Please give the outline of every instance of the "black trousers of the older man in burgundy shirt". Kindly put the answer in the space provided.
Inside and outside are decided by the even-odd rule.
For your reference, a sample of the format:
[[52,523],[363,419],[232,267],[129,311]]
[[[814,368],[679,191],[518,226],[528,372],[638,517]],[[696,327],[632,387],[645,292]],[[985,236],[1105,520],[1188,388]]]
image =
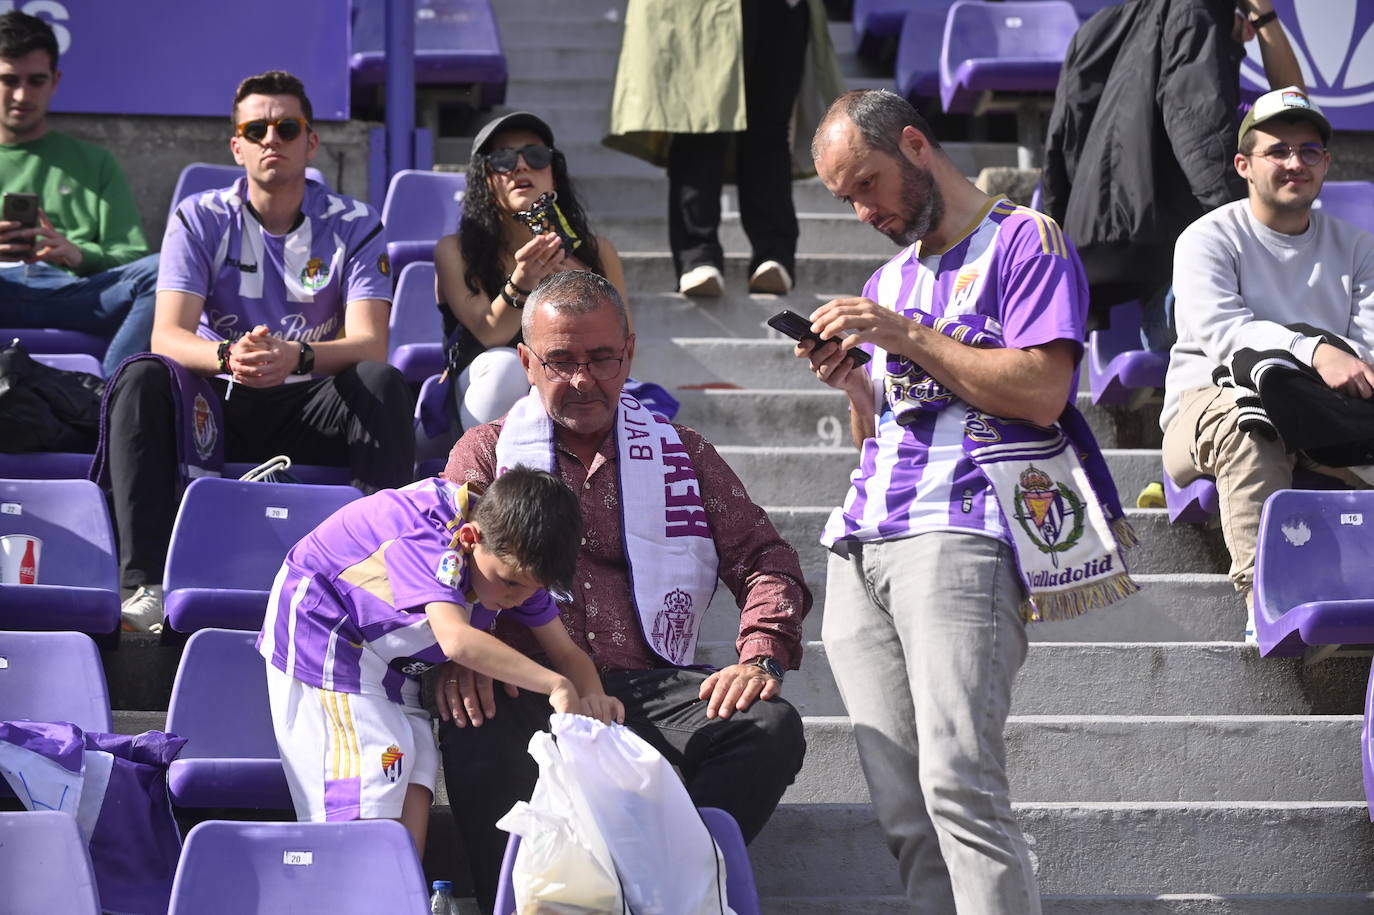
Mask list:
[[[682,772],[697,806],[719,806],[750,842],[801,769],[807,752],[801,716],[783,699],[754,702],[728,719],[706,719],[697,698],[706,673],[676,668],[620,670],[602,681],[625,703],[625,725]],[[496,901],[506,833],[496,828],[515,801],[528,801],[539,778],[529,739],[548,730],[548,697],[496,688],[496,714],[481,727],[440,724],[444,782],[473,870],[482,911]]]

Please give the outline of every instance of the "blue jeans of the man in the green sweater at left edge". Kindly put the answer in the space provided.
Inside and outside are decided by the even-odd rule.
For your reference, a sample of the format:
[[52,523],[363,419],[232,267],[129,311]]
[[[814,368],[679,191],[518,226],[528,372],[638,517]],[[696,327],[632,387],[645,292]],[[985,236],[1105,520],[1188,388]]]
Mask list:
[[144,353],[153,335],[158,256],[74,276],[51,264],[0,268],[0,327],[54,327],[113,338],[104,374]]

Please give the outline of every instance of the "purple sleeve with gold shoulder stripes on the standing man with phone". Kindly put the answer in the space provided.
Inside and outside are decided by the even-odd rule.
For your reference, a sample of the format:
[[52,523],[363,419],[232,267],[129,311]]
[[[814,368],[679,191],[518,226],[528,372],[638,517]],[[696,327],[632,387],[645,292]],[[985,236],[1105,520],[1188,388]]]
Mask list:
[[1058,227],[1039,218],[1048,225],[1025,217],[1007,246],[1000,295],[1003,342],[1025,349],[1072,339],[1081,346],[1088,312],[1083,265]]

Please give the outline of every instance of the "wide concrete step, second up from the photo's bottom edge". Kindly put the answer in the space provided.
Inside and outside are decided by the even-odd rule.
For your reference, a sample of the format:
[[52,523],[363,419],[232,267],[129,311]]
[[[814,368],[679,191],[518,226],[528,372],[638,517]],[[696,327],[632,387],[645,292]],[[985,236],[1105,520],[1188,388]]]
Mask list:
[[[1040,890],[1051,896],[1364,893],[1374,856],[1363,801],[1017,804],[1015,811]],[[866,805],[780,806],[749,853],[764,897],[901,892]]]

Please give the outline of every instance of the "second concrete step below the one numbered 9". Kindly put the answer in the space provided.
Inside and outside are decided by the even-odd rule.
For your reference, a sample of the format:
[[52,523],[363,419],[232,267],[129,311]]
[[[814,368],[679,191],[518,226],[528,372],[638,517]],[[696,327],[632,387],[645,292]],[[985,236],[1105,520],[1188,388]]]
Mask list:
[[[818,539],[834,506],[765,507],[778,533],[801,554],[807,580],[820,581],[826,572],[826,551]],[[1215,574],[1227,569],[1228,559],[1220,530],[1171,525],[1164,508],[1127,508],[1125,515],[1140,540],[1127,555],[1132,572]]]

